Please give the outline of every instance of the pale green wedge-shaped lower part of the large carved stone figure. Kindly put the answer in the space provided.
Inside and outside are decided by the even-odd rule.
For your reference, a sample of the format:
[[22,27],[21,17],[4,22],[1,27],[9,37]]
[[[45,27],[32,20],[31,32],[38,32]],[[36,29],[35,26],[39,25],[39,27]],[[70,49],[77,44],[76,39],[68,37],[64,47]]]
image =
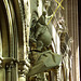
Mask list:
[[40,72],[48,71],[56,66],[59,66],[62,55],[53,53],[51,50],[38,54],[38,59],[35,66],[31,67],[28,76],[33,76]]

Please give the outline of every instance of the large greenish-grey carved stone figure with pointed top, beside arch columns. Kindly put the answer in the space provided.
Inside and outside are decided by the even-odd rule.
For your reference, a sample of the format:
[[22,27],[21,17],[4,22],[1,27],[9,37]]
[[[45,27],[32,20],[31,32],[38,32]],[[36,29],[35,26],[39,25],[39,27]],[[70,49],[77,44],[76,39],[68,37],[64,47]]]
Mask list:
[[62,56],[53,53],[50,48],[52,42],[51,33],[45,24],[45,12],[36,22],[35,27],[31,27],[30,36],[30,58],[32,67],[28,76],[44,72],[59,65]]

